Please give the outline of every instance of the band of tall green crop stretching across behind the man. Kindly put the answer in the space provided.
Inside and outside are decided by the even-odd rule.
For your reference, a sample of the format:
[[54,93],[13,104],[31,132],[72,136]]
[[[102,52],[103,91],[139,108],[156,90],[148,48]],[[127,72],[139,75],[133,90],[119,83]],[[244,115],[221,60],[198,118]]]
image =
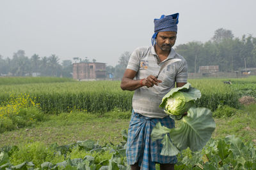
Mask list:
[[[8,78],[6,78],[8,79]],[[255,77],[241,80],[234,80],[234,85],[226,85],[221,79],[189,80],[189,82],[202,92],[202,97],[197,101],[197,106],[211,109],[218,108],[219,104],[227,104],[239,108],[237,93],[239,85],[244,81],[253,86]],[[4,80],[4,78],[3,78]],[[7,81],[7,80],[6,80]],[[123,111],[131,110],[133,92],[122,91],[120,81],[71,81],[42,83],[33,81],[31,83],[11,85],[0,85],[0,103],[9,101],[10,96],[29,94],[35,98],[36,103],[47,113],[61,113],[70,110],[86,110],[89,112],[104,112],[119,108]],[[63,80],[64,81],[64,80]],[[233,80],[232,80],[233,81]],[[252,93],[255,92],[255,89]]]

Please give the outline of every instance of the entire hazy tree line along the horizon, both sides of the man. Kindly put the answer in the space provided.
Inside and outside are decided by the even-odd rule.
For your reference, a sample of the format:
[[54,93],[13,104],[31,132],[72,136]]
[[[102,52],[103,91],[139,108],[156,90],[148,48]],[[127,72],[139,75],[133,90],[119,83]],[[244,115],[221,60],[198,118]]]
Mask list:
[[[188,62],[189,73],[198,73],[199,66],[219,66],[220,71],[239,71],[244,67],[256,67],[256,38],[251,34],[234,38],[232,31],[217,29],[214,36],[207,42],[191,41],[175,46],[175,51],[182,55]],[[107,66],[107,74],[113,78],[122,78],[131,56],[124,52],[118,59],[116,66]],[[75,62],[90,62],[85,57],[73,58]],[[93,59],[93,62],[96,62]],[[40,76],[65,76],[72,77],[72,60],[63,60],[56,55],[39,57],[34,54],[31,58],[25,55],[24,50],[13,53],[12,59],[3,59],[0,55],[0,75],[31,76],[40,73]]]

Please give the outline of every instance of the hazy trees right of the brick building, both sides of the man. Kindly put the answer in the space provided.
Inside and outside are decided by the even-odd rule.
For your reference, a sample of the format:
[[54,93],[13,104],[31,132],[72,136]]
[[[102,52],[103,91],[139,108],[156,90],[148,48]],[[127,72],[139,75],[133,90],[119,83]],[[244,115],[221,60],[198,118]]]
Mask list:
[[[232,31],[223,28],[214,31],[209,41],[177,45],[175,52],[187,60],[189,73],[198,73],[199,66],[219,66],[219,71],[223,72],[256,67],[256,38],[251,34],[234,38]],[[116,78],[122,78],[130,55],[123,53],[115,67],[109,66]]]

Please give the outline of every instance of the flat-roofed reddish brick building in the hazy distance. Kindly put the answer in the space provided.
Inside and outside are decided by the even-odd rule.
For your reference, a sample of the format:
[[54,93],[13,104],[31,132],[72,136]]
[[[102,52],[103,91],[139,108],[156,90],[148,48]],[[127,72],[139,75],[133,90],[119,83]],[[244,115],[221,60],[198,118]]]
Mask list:
[[104,80],[106,78],[106,63],[80,62],[73,64],[73,79]]

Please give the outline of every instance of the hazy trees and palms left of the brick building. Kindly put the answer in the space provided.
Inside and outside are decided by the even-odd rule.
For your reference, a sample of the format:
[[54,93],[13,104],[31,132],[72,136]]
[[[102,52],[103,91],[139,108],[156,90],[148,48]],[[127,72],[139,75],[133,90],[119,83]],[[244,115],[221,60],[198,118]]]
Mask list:
[[63,60],[60,64],[60,59],[55,54],[39,57],[35,53],[29,58],[24,50],[18,50],[13,53],[12,59],[3,59],[0,55],[0,75],[72,77],[72,60]]

